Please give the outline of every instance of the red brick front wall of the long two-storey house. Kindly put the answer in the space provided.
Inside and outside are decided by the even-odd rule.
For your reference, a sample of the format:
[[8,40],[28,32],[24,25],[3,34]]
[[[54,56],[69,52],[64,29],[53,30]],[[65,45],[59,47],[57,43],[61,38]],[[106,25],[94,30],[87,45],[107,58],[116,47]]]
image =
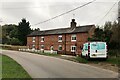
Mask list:
[[[44,45],[44,50],[50,50],[50,47],[53,46],[53,49],[55,51],[58,51],[58,46],[62,45],[62,51],[58,51],[59,53],[74,54],[71,52],[71,46],[75,45],[76,54],[80,54],[81,47],[83,46],[83,43],[87,42],[87,38],[89,34],[88,33],[75,34],[77,38],[75,42],[71,41],[71,35],[73,34],[66,34],[66,35],[62,34],[62,42],[58,42],[59,35],[34,36],[35,42],[33,42],[32,40],[33,37],[27,37],[27,46],[28,48],[32,49],[32,45],[34,44],[36,49],[41,49],[41,45]],[[44,37],[44,42],[41,42],[41,37]]]

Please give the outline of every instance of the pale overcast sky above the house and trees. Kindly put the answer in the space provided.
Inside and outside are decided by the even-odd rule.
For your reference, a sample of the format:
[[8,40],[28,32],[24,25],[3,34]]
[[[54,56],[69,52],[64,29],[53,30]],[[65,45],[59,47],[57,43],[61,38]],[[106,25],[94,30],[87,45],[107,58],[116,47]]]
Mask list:
[[0,0],[0,24],[18,24],[22,18],[26,18],[30,22],[31,28],[48,30],[69,27],[72,18],[76,19],[78,26],[103,25],[105,21],[117,19],[118,4],[101,20],[118,0],[96,0],[54,20],[35,25],[89,1],[92,0]]

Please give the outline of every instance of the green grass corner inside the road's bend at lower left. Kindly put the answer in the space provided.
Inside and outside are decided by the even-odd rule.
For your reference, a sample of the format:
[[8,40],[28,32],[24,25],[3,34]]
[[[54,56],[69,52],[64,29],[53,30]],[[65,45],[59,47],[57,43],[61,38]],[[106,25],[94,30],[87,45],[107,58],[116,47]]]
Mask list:
[[2,78],[17,78],[17,80],[29,78],[29,80],[32,80],[21,65],[5,55],[2,55]]

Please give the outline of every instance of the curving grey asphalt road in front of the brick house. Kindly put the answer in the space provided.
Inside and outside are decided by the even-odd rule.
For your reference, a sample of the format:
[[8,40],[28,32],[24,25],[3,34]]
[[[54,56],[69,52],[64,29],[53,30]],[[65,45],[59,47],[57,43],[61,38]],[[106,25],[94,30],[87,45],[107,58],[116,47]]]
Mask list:
[[16,60],[23,66],[23,68],[30,74],[32,78],[118,77],[118,73],[110,70],[49,56],[9,50],[3,50],[2,54],[5,54]]

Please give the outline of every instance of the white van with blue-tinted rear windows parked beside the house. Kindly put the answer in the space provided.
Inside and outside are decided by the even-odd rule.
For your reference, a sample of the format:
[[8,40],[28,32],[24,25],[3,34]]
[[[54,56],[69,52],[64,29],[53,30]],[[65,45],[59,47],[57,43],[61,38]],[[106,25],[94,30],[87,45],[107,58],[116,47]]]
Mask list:
[[106,42],[87,42],[83,44],[81,57],[104,58],[107,59],[107,44]]

